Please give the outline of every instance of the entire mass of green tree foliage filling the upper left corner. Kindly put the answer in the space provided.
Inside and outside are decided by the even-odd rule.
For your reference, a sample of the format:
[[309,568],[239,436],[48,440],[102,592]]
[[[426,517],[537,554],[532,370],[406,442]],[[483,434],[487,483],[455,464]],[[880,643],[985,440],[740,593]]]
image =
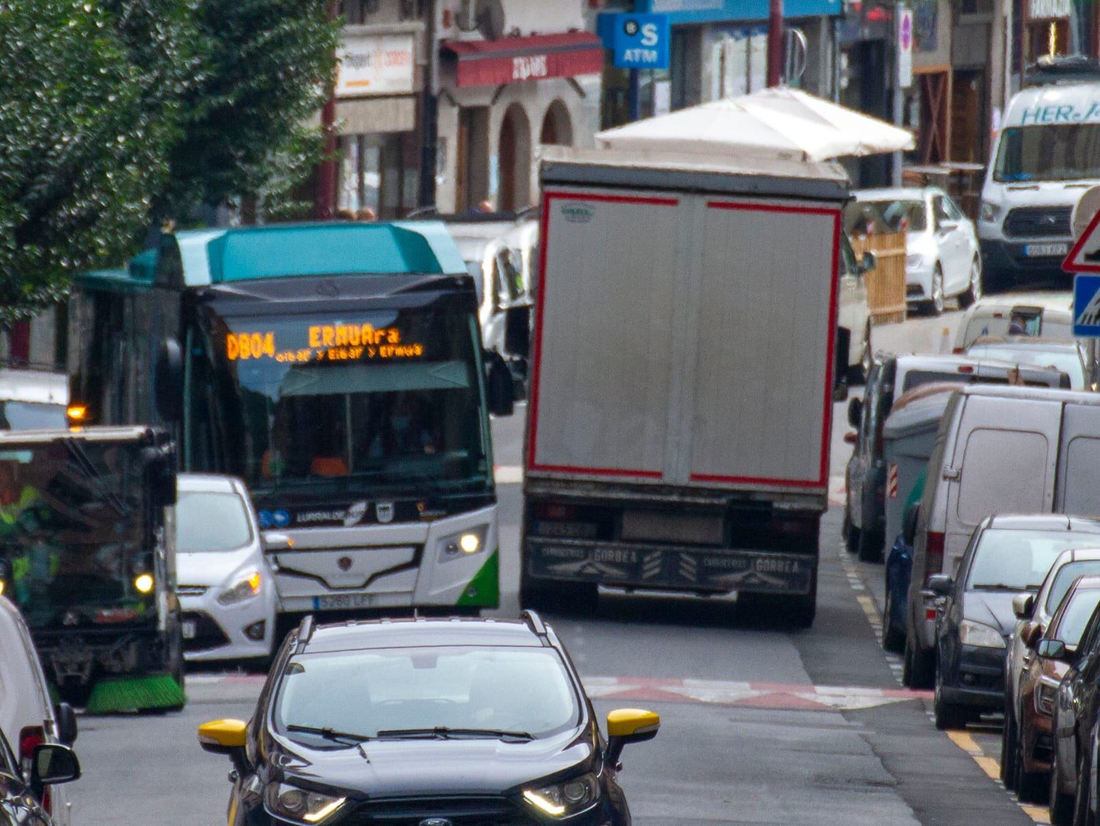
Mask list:
[[0,0],[0,328],[319,157],[328,0]]

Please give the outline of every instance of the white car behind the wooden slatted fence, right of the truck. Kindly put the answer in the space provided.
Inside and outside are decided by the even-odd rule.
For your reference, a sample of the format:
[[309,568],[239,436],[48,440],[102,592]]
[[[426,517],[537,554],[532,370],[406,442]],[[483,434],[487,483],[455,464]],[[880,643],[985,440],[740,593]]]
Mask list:
[[969,307],[981,297],[981,253],[974,222],[938,187],[860,189],[845,210],[849,233],[902,232],[905,298],[936,315],[947,298]]

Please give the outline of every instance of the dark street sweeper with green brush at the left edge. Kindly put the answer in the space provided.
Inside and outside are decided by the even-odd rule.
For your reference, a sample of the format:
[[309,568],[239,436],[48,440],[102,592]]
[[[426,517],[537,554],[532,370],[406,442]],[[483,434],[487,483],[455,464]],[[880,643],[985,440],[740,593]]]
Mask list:
[[0,593],[59,698],[184,705],[175,445],[146,427],[0,432]]

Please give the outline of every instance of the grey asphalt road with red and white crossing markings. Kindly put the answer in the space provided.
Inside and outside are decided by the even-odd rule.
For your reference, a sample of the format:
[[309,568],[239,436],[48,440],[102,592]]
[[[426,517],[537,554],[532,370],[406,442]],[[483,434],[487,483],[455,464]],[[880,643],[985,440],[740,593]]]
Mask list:
[[[952,329],[957,316],[879,328],[875,343],[938,351],[943,328]],[[494,425],[501,613],[512,616],[525,412],[520,407]],[[835,476],[847,461],[845,428],[837,405]],[[838,494],[834,503],[843,502]],[[871,619],[882,569],[843,551],[839,521],[834,504],[822,526],[818,612],[810,630],[739,616],[733,599],[602,596],[591,616],[550,618],[601,714],[645,706],[662,716],[657,740],[624,756],[639,826],[1033,822],[989,777],[996,729],[936,731],[930,697],[901,689],[897,659],[882,652]],[[85,775],[72,788],[74,826],[223,823],[230,766],[198,748],[196,727],[250,716],[262,679],[201,671],[189,675],[190,702],[179,714],[81,718],[76,746]]]

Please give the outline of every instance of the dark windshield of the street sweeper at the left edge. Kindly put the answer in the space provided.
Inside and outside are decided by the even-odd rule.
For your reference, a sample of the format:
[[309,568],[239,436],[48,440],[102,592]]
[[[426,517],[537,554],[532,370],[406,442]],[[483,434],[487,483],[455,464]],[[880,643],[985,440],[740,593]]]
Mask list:
[[[0,450],[0,555],[32,627],[103,621],[148,605],[134,577],[152,572],[140,445],[58,439]],[[128,615],[129,616],[129,615]],[[75,619],[73,619],[75,617]]]

